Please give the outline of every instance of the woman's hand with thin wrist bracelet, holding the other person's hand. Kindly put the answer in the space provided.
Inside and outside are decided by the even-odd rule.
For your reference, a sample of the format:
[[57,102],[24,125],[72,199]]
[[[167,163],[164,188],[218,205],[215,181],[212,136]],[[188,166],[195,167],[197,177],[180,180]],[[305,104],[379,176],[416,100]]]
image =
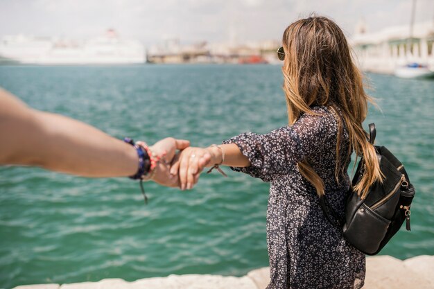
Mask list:
[[214,148],[189,147],[175,157],[171,167],[171,175],[178,175],[182,191],[192,189],[198,182],[203,168],[219,164],[220,161],[221,154],[219,155]]

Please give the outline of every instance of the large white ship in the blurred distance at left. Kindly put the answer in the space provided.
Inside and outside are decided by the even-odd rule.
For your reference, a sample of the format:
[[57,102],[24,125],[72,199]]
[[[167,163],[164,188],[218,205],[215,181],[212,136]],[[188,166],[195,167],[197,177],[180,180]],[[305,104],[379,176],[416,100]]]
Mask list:
[[112,29],[92,40],[77,42],[50,37],[5,36],[0,62],[22,64],[139,64],[146,62],[143,44],[124,40]]

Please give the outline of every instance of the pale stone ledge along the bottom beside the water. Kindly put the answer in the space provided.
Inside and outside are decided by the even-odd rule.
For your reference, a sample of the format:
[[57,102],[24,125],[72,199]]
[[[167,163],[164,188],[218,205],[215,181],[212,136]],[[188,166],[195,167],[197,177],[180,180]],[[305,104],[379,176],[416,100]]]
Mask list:
[[[366,259],[366,289],[434,288],[434,256],[417,256],[401,261],[391,256],[370,256]],[[169,275],[128,282],[103,279],[98,282],[40,284],[14,289],[264,289],[270,281],[270,269],[260,268],[243,277],[220,275]]]

